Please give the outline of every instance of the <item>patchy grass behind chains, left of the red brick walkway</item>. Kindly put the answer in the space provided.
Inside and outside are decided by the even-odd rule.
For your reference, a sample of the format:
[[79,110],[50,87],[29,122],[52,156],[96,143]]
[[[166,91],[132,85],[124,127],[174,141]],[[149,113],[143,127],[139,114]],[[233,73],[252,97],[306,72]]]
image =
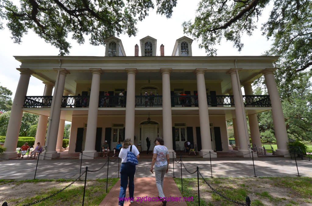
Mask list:
[[[108,179],[108,191],[116,184],[116,182],[119,180],[119,178],[109,178]],[[46,184],[49,184],[47,182],[57,182],[59,183],[58,186],[45,189],[44,187],[39,187],[37,190],[32,190],[32,193],[28,193],[27,197],[25,198],[18,198],[18,199],[7,199],[6,201],[9,203],[9,205],[17,205],[21,206],[24,204],[29,204],[32,202],[35,202],[37,200],[49,197],[53,194],[56,194],[61,189],[65,188],[67,185],[70,184],[74,180],[64,180],[64,179],[58,179],[58,180],[21,180],[21,181],[0,181],[0,184],[9,184],[10,185],[18,185],[19,187],[22,187],[24,183],[33,183],[37,184],[39,182],[44,182]],[[68,182],[68,184],[67,184]],[[78,181],[77,181],[78,182]],[[84,181],[79,181],[79,184],[76,184],[76,182],[66,188],[65,190],[59,192],[58,194],[40,202],[36,205],[38,206],[44,206],[44,205],[81,205],[82,199],[83,199],[83,192],[84,192]],[[65,186],[63,183],[66,183]],[[62,184],[62,185],[60,185]],[[90,206],[97,206],[101,203],[101,201],[106,196],[106,179],[96,179],[96,180],[87,180],[87,186],[85,190],[85,205]]]

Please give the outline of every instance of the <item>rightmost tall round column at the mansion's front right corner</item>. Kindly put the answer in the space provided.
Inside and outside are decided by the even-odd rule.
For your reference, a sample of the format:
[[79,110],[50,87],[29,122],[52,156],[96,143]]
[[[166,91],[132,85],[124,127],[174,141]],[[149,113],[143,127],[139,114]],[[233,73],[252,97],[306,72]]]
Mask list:
[[265,69],[263,71],[266,79],[266,88],[270,95],[272,105],[272,118],[274,124],[275,138],[277,149],[275,154],[284,155],[289,153],[286,143],[288,142],[287,130],[283,114],[282,103],[280,102],[280,94],[278,93],[273,70]]

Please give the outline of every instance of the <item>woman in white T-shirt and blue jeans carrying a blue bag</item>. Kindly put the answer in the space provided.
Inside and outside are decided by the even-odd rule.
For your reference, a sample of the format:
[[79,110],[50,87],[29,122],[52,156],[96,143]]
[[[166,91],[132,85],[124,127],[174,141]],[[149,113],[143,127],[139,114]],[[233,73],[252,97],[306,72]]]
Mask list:
[[[120,192],[119,192],[119,206],[124,205],[124,198],[126,197],[126,190],[128,185],[128,178],[129,178],[129,197],[130,199],[134,198],[134,174],[135,174],[135,165],[127,164],[127,153],[130,151],[130,147],[132,146],[131,152],[139,160],[139,150],[131,143],[130,138],[126,138],[124,143],[122,144],[122,148],[119,152],[119,158],[121,158],[121,166],[120,166]],[[130,201],[130,203],[133,200]]]

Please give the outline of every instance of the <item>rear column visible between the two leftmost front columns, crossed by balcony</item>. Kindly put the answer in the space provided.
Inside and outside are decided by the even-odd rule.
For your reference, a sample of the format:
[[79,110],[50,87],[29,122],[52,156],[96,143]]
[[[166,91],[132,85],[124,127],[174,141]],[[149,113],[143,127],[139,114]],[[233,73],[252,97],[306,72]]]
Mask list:
[[[43,82],[43,83],[45,84],[43,96],[52,96],[54,83],[51,82]],[[37,142],[40,142],[41,145],[45,144],[47,125],[48,125],[48,116],[39,115],[35,144],[33,145],[34,148],[37,146]]]

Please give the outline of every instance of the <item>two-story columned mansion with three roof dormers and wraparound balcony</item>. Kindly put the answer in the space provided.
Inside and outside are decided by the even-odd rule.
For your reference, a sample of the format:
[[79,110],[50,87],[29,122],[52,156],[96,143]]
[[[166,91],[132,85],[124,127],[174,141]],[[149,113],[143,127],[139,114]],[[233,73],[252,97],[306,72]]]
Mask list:
[[[15,56],[21,62],[17,68],[21,74],[4,144],[7,150],[1,157],[17,157],[23,112],[40,115],[36,142],[44,143],[46,157],[58,157],[64,150],[65,121],[71,122],[69,153],[96,157],[105,140],[113,148],[125,137],[143,151],[147,137],[152,140],[151,149],[154,139],[163,137],[171,156],[185,141],[196,144],[201,155],[228,152],[226,121],[230,119],[236,149],[247,154],[246,118],[252,143],[261,146],[256,114],[272,110],[275,154],[287,154],[288,138],[273,75],[272,62],[277,57],[192,56],[192,41],[179,38],[171,56],[164,56],[163,44],[161,55],[156,56],[157,40],[150,36],[134,46],[134,56],[126,56],[116,37],[105,40],[105,56]],[[44,94],[26,96],[31,75],[43,82]],[[251,83],[262,75],[269,95],[255,96]]]

